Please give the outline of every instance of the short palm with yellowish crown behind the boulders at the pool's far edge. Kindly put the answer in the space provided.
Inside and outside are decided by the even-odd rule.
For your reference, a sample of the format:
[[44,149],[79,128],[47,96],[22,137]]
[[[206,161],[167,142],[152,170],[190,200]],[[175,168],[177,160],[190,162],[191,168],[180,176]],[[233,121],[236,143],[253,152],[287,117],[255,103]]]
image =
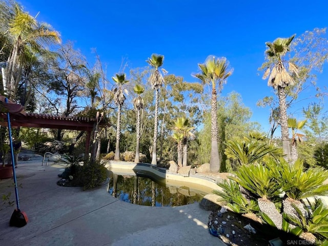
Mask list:
[[[186,119],[185,117],[179,117],[179,118],[177,118],[176,121],[174,121],[173,129],[181,137],[180,148],[182,150],[180,150],[180,151],[183,153],[183,156],[181,156],[182,167],[187,167],[188,137],[194,136],[194,134],[192,133],[192,130],[194,129],[194,127],[190,127],[188,119]],[[179,155],[179,142],[178,142],[178,155]],[[178,158],[178,163],[179,163],[179,158]]]

